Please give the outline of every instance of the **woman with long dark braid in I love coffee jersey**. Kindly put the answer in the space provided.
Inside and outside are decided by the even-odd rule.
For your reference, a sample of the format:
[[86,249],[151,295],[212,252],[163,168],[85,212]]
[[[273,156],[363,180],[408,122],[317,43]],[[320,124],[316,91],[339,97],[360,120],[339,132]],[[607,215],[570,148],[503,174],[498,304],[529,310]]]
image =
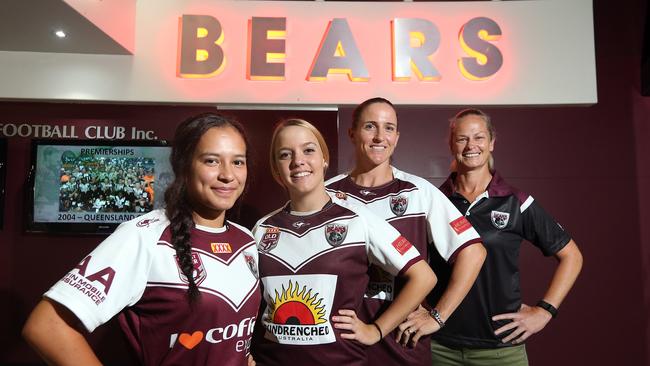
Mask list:
[[119,314],[142,364],[252,363],[257,250],[251,233],[226,219],[245,191],[248,153],[234,120],[181,123],[166,209],[121,224],[46,292],[26,340],[50,364],[99,365],[84,335]]

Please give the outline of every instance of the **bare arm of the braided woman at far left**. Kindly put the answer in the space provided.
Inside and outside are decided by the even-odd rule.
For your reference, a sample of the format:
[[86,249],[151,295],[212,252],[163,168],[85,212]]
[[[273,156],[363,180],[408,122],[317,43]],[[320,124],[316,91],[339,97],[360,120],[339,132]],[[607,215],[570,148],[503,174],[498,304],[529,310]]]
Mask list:
[[81,329],[74,314],[45,298],[27,319],[23,337],[48,365],[101,365]]

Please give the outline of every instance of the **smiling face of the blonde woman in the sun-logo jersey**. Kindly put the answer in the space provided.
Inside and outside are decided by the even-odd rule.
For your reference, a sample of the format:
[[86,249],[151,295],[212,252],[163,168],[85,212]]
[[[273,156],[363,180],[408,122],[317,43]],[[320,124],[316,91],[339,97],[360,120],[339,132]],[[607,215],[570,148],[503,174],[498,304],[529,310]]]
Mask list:
[[292,201],[325,190],[327,162],[316,135],[306,127],[286,126],[276,135],[273,163]]

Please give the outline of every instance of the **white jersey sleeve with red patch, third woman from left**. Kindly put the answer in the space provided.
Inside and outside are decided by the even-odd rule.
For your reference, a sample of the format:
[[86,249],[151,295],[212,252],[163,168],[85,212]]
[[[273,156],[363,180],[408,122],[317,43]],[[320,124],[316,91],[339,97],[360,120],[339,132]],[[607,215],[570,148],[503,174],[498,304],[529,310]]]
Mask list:
[[481,237],[469,220],[439,189],[431,184],[422,187],[427,207],[429,240],[446,261],[453,261],[466,246],[478,243]]

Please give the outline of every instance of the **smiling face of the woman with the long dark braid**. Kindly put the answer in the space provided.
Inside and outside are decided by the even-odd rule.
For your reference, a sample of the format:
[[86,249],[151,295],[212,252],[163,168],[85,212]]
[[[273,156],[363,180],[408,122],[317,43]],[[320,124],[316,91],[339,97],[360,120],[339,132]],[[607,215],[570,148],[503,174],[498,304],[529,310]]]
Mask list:
[[[187,191],[199,225],[221,226],[246,185],[246,143],[232,127],[206,131],[194,149]],[[212,224],[212,225],[211,225]]]

